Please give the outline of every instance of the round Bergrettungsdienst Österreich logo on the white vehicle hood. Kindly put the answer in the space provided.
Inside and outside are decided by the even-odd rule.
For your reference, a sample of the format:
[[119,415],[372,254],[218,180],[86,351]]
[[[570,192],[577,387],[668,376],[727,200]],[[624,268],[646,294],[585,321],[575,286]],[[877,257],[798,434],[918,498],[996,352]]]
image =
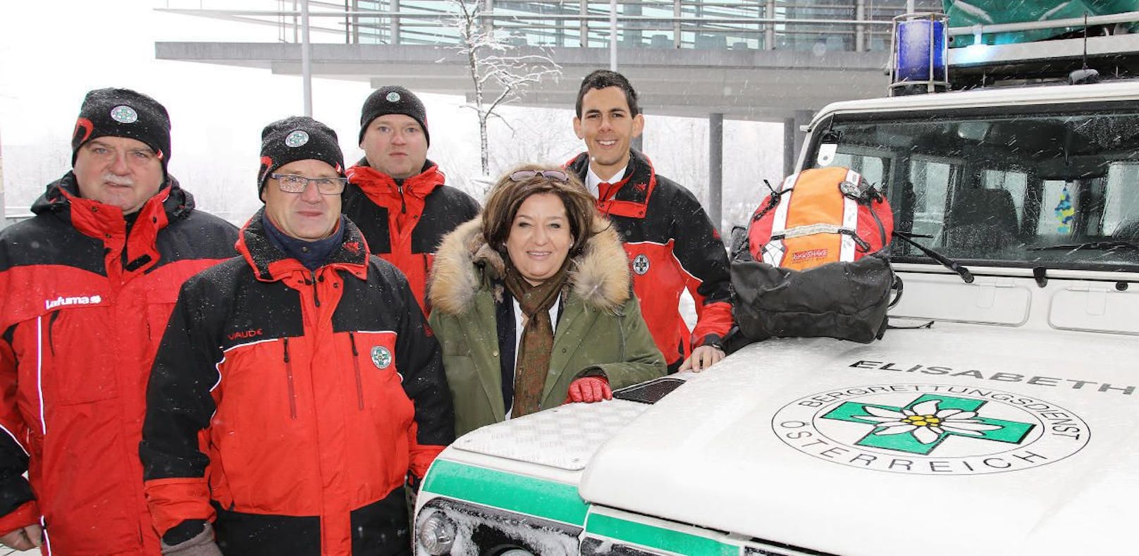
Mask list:
[[820,392],[776,412],[772,430],[813,457],[866,469],[975,475],[1080,451],[1090,431],[1052,402],[985,387],[879,384]]

